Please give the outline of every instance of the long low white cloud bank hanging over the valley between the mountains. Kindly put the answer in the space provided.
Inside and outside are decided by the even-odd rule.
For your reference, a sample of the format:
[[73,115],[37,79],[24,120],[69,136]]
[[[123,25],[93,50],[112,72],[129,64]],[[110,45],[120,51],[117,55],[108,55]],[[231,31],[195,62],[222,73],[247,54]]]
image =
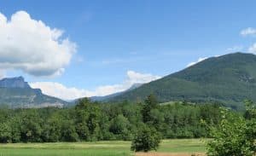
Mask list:
[[113,85],[102,85],[97,87],[96,90],[84,90],[73,87],[68,88],[63,84],[53,82],[36,82],[30,83],[30,85],[32,86],[32,88],[41,89],[46,95],[52,95],[64,100],[72,100],[84,96],[90,97],[95,95],[110,95],[119,91],[127,90],[131,87],[132,84],[144,84],[158,78],[160,78],[160,76],[155,76],[149,73],[127,71],[126,78],[122,83]]

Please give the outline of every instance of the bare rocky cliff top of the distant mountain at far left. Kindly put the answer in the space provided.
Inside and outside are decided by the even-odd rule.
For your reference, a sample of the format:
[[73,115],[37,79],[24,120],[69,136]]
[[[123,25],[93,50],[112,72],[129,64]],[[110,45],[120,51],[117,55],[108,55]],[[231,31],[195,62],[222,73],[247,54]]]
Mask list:
[[24,81],[23,77],[3,78],[0,80],[0,88],[21,88],[27,89],[30,86]]

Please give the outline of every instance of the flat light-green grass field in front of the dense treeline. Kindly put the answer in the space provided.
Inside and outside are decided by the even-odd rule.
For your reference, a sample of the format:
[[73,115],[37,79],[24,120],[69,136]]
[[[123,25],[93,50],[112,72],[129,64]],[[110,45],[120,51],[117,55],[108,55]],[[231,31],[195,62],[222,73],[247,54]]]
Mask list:
[[[131,142],[58,142],[0,144],[0,156],[126,156],[145,155],[132,153]],[[206,147],[199,139],[164,140],[157,153],[147,155],[191,155],[204,153]]]

